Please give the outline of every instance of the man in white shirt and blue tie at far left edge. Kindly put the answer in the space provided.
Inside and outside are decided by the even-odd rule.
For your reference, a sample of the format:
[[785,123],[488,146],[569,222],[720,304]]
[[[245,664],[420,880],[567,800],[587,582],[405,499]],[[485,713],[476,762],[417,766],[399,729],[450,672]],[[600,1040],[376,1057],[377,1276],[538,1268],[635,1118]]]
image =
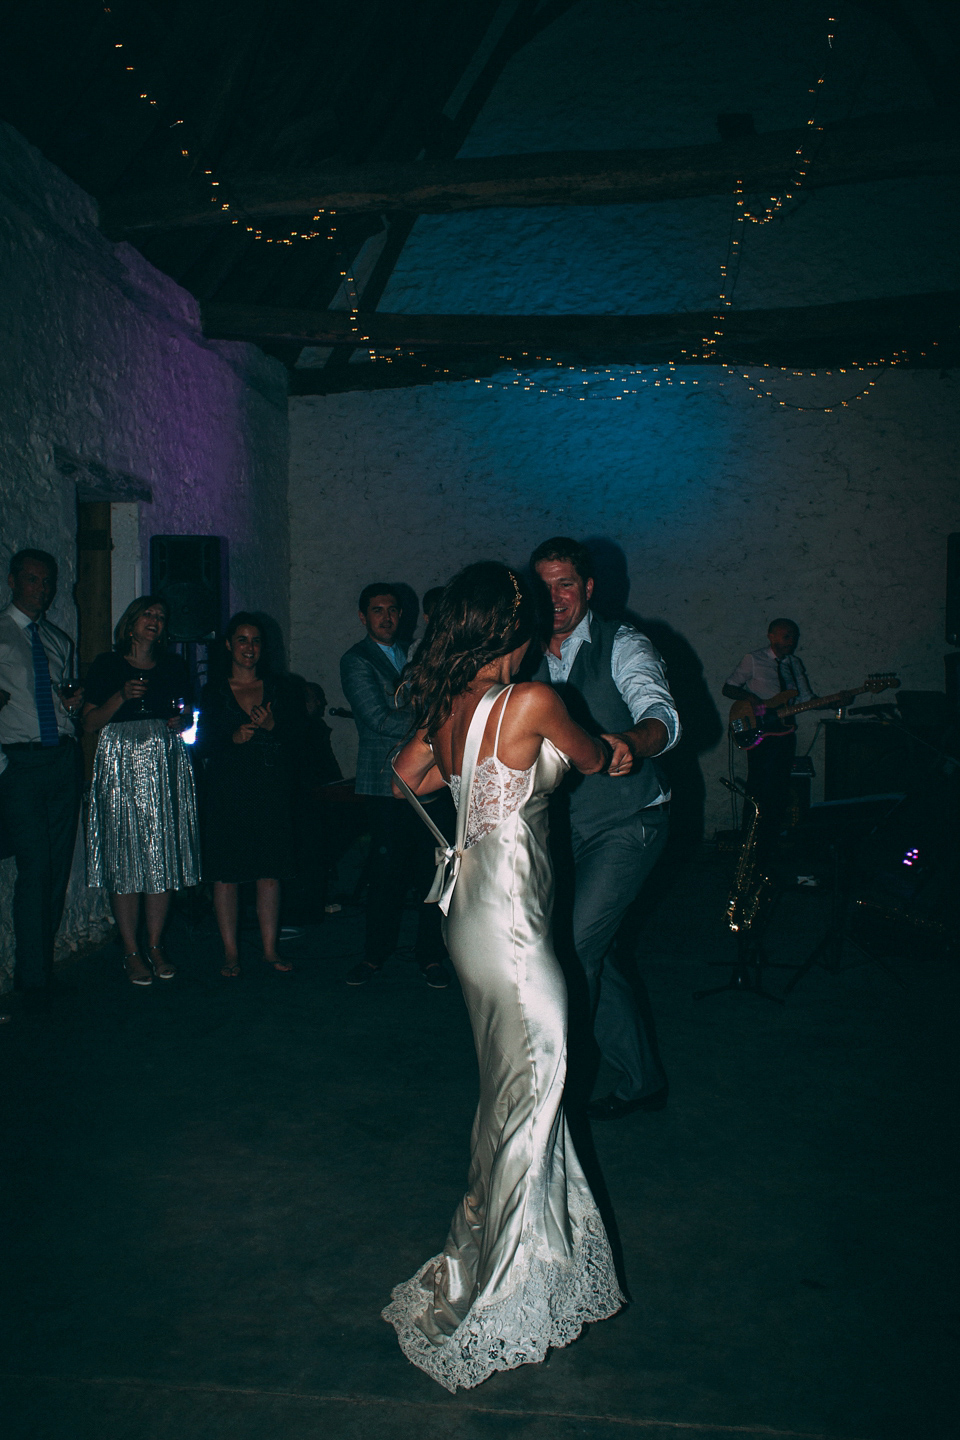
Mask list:
[[56,560],[20,550],[10,562],[12,602],[0,612],[0,821],[17,861],[13,891],[14,988],[42,999],[53,976],[53,940],[73,864],[82,760],[72,714],[73,642],[45,618]]

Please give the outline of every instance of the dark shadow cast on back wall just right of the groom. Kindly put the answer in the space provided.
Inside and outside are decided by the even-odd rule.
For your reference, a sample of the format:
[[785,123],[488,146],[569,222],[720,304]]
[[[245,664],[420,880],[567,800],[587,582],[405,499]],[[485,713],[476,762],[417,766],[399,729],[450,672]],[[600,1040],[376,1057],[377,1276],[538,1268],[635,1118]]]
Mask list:
[[723,737],[724,726],[704,680],[699,655],[685,635],[662,619],[638,615],[628,608],[630,576],[619,544],[603,536],[586,541],[593,556],[592,608],[603,619],[625,621],[649,635],[666,664],[666,677],[676,703],[684,734],[661,760],[672,789],[669,852],[675,860],[689,854],[704,838],[707,786],[699,756]]

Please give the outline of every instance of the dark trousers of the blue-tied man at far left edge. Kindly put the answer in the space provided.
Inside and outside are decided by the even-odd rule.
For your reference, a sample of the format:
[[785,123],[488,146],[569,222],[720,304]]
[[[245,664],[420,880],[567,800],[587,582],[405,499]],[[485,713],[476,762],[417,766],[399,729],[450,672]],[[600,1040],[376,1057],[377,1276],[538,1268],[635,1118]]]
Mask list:
[[73,864],[81,780],[81,747],[73,740],[49,750],[7,752],[7,768],[0,775],[0,818],[17,861],[17,989],[39,989],[53,973],[53,940]]

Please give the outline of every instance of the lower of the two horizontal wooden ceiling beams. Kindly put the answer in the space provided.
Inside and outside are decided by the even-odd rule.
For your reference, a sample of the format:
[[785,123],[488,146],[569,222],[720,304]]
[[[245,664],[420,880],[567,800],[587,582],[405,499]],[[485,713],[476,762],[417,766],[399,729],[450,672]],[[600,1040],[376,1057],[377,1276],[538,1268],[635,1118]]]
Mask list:
[[[553,356],[593,363],[702,364],[704,337],[718,327],[711,311],[676,315],[387,315],[363,314],[354,328],[347,311],[296,311],[259,305],[204,305],[207,336],[258,344],[350,344],[354,348],[416,353],[455,350],[534,364]],[[733,310],[711,359],[770,364],[845,364],[889,359],[956,363],[960,346],[960,291],[895,295],[882,300]],[[936,343],[936,344],[934,344]],[[921,351],[927,351],[925,356]]]

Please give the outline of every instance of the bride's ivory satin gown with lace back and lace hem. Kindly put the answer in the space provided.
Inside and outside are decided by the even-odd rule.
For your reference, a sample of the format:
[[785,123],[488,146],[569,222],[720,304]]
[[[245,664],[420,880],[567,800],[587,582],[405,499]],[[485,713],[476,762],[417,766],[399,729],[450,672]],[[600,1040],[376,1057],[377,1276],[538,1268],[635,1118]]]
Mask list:
[[[446,919],[479,1061],[468,1188],[443,1253],[383,1316],[450,1391],[543,1361],[623,1303],[561,1109],[567,994],[550,937],[547,801],[567,763],[545,740],[530,770],[510,770],[497,749],[476,766]],[[450,789],[459,802],[459,776]]]

